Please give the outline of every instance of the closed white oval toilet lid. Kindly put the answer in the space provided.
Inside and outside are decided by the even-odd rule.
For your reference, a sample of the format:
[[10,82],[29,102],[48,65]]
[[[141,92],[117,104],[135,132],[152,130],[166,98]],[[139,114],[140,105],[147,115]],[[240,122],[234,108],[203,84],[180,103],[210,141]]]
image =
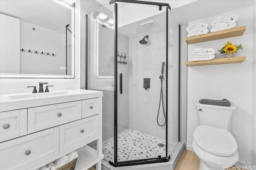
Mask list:
[[231,133],[218,127],[198,126],[194,131],[194,141],[201,149],[217,156],[232,156],[237,151]]

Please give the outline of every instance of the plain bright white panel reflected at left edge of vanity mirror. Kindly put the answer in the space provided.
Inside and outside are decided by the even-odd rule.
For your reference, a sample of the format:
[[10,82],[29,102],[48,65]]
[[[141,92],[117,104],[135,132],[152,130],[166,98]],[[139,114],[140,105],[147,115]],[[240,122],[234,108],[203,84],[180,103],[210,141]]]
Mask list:
[[0,72],[20,73],[20,20],[0,14]]

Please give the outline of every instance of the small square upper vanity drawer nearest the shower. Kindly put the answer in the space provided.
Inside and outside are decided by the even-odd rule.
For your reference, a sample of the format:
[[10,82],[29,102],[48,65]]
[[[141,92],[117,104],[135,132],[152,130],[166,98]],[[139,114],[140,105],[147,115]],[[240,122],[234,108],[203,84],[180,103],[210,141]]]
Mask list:
[[99,98],[82,100],[82,118],[99,114]]

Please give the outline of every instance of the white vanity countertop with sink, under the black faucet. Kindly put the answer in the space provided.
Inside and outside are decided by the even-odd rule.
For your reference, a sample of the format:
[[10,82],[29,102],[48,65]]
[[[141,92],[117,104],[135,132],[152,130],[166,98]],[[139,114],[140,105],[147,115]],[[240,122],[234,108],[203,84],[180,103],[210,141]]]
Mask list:
[[58,90],[48,93],[1,94],[0,112],[102,97],[94,90]]

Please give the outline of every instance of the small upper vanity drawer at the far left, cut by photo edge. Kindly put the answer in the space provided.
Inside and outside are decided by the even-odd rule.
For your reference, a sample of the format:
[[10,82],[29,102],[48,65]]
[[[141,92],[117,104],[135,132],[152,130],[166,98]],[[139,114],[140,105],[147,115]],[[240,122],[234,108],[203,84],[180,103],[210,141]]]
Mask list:
[[0,113],[0,142],[27,134],[27,109]]

